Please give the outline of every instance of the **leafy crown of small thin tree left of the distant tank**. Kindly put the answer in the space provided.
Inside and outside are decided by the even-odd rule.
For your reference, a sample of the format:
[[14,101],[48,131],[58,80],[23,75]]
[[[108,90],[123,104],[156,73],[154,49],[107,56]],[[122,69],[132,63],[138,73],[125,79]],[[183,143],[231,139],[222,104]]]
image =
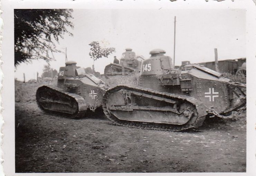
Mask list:
[[110,54],[115,52],[114,47],[102,48],[99,46],[99,42],[91,42],[89,45],[91,46],[89,55],[94,61],[96,61],[98,58],[108,57]]

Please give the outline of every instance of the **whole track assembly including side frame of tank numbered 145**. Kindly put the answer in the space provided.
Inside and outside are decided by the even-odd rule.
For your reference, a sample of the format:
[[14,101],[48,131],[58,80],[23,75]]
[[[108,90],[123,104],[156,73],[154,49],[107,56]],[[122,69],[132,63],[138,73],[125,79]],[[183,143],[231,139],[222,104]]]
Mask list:
[[107,118],[133,128],[181,131],[198,127],[206,109],[193,97],[135,86],[114,87],[103,97]]

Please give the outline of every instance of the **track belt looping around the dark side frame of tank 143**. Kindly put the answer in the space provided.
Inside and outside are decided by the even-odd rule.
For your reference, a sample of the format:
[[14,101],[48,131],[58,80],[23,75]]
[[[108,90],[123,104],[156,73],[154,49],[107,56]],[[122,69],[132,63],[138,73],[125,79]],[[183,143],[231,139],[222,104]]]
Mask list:
[[[41,106],[40,102],[38,101],[38,99],[39,99],[38,91],[40,91],[40,89],[43,89],[43,88],[51,89],[51,90],[56,91],[58,94],[62,94],[64,96],[66,95],[66,96],[69,96],[69,97],[73,98],[77,102],[78,107],[80,106],[79,108],[77,107],[77,112],[75,112],[73,114],[70,114],[70,113],[53,111],[53,110],[48,110],[48,109],[43,108]],[[85,100],[82,96],[79,96],[79,95],[74,94],[74,93],[70,93],[68,91],[65,91],[64,89],[61,89],[61,88],[57,87],[57,86],[42,86],[42,87],[39,87],[38,90],[37,90],[37,93],[36,93],[36,102],[37,102],[38,107],[42,111],[44,111],[46,114],[57,115],[57,116],[70,118],[70,119],[78,119],[78,118],[84,117],[84,115],[86,113],[86,109],[87,109],[86,102],[85,102]]]

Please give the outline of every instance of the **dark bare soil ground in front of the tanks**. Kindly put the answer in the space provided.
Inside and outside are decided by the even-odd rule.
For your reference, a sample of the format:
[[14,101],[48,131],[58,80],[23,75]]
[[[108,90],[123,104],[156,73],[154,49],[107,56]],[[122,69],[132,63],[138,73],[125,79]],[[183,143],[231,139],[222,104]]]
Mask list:
[[101,110],[78,120],[44,114],[40,85],[15,86],[16,173],[246,172],[245,112],[184,132],[142,130],[114,125]]

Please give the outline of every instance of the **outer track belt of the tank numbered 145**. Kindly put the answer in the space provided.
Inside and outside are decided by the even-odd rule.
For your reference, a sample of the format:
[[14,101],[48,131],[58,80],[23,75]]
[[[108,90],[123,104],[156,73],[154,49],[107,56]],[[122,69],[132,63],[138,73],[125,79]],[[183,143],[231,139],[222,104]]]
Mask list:
[[[170,98],[170,99],[175,99],[175,100],[180,100],[183,102],[189,102],[192,103],[193,106],[196,107],[197,113],[198,113],[198,118],[195,123],[190,123],[190,120],[184,124],[184,125],[171,125],[171,124],[162,124],[162,123],[149,123],[149,122],[137,122],[137,121],[123,121],[119,120],[116,117],[114,117],[107,109],[107,97],[110,95],[112,92],[118,91],[120,89],[128,89],[132,91],[139,91],[147,94],[152,94],[152,95],[160,95],[165,98]],[[149,129],[149,130],[164,130],[164,131],[182,131],[182,130],[187,130],[193,127],[198,127],[200,126],[203,121],[205,120],[205,117],[207,115],[206,112],[206,107],[203,105],[203,103],[193,97],[186,96],[186,95],[179,95],[179,94],[172,94],[169,92],[162,92],[158,90],[153,90],[150,88],[144,88],[144,87],[135,87],[135,86],[125,86],[125,85],[119,85],[117,87],[114,87],[112,89],[109,89],[106,91],[105,95],[103,96],[103,103],[102,107],[104,110],[104,113],[108,119],[116,123],[117,125],[121,126],[127,126],[131,128],[140,128],[140,129]]]

